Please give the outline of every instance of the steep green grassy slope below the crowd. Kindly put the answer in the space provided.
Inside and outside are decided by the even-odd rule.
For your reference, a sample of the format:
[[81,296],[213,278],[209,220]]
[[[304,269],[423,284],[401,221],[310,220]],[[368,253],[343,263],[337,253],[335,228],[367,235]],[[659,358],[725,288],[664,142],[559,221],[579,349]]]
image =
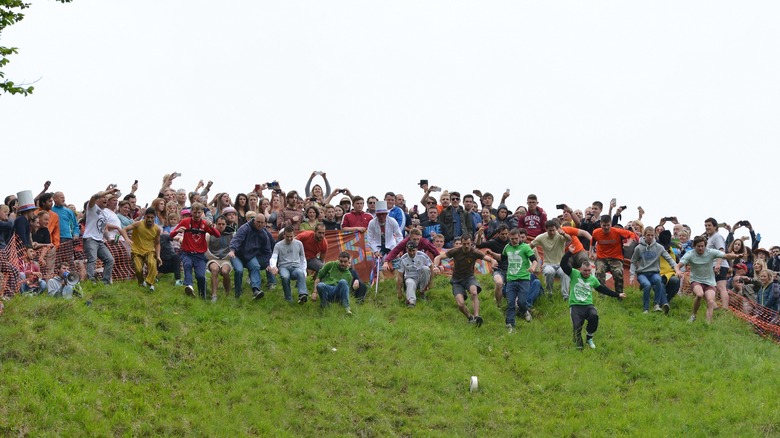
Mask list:
[[351,317],[281,288],[211,304],[169,278],[17,297],[0,317],[0,435],[780,434],[780,347],[732,315],[688,324],[687,297],[665,317],[635,289],[598,296],[598,348],[578,351],[560,299],[508,334],[481,280],[481,328],[443,278],[415,309],[386,281]]

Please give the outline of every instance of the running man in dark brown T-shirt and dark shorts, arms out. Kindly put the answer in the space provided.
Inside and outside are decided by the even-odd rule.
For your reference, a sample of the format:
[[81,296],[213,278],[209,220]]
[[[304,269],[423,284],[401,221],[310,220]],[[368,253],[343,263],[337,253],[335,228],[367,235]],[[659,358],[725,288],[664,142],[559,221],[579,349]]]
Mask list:
[[[433,272],[437,273],[440,271],[439,265],[443,258],[451,258],[455,261],[455,268],[452,270],[452,278],[450,279],[455,304],[458,306],[460,313],[466,316],[470,324],[476,324],[477,327],[481,327],[484,321],[479,316],[479,293],[482,292],[482,287],[474,276],[474,263],[477,260],[488,260],[495,269],[498,266],[498,262],[492,257],[474,249],[471,236],[468,234],[460,236],[460,244],[460,247],[452,248],[444,254],[436,256],[433,260]],[[469,313],[466,308],[467,292],[471,296],[471,307],[474,313]]]

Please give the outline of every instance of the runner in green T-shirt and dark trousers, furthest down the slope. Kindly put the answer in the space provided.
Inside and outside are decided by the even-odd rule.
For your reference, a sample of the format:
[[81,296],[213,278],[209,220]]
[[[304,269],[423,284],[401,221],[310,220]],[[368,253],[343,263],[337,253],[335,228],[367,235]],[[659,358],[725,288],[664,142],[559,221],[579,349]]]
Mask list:
[[585,261],[577,269],[572,269],[570,258],[574,252],[574,245],[569,245],[569,251],[561,259],[561,268],[569,276],[569,313],[571,314],[572,333],[574,335],[574,345],[582,350],[582,327],[585,321],[588,322],[588,328],[585,331],[585,337],[590,348],[595,349],[596,343],[593,342],[593,335],[599,328],[599,313],[593,306],[593,291],[615,298],[625,298],[625,293],[617,293],[608,287],[599,283],[595,276],[591,275],[592,268],[590,261]]

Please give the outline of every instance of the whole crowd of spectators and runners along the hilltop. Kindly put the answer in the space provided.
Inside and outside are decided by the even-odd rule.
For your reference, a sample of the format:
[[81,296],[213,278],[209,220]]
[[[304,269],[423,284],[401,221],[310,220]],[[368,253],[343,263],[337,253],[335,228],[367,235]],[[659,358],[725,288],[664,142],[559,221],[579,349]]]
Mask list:
[[[235,196],[212,193],[211,181],[200,181],[192,191],[174,188],[178,176],[165,175],[146,207],[135,194],[138,181],[124,195],[109,185],[78,207],[67,204],[63,192],[49,191],[48,181],[37,196],[29,190],[7,196],[0,206],[3,299],[47,289],[57,289],[48,290],[56,294],[61,288],[47,280],[62,282],[71,272],[82,281],[110,285],[116,255],[126,253],[132,275],[149,291],[161,274],[170,273],[187,295],[217,301],[221,282],[240,298],[246,270],[254,300],[281,283],[285,300],[296,301],[294,280],[298,304],[337,302],[347,314],[352,314],[350,297],[362,301],[367,282],[379,281],[382,270],[394,277],[399,299],[410,308],[427,298],[434,276],[447,272],[458,310],[481,326],[474,267],[484,260],[492,268],[493,298],[506,307],[509,331],[516,329],[518,315],[532,321],[535,301],[551,298],[558,279],[578,348],[595,348],[593,291],[625,297],[626,264],[629,284],[638,282],[642,290],[644,313],[668,313],[681,287],[690,287],[695,295],[690,322],[705,302],[709,323],[718,300],[728,308],[730,296],[739,297],[744,313],[768,309],[772,322],[777,320],[780,246],[761,247],[746,220],[730,226],[707,218],[704,233],[696,234],[675,217],[646,226],[641,207],[636,219],[624,223],[626,208],[616,199],[606,211],[594,201],[583,209],[558,204],[548,215],[533,194],[525,205],[510,209],[508,189],[496,205],[489,192],[461,196],[421,180],[420,207],[410,208],[400,193],[363,197],[347,188],[331,189],[324,172],[312,172],[303,193],[274,181]],[[312,185],[317,177],[324,188]],[[740,228],[749,236],[735,237]],[[364,235],[376,263],[370,278],[360,277],[349,252],[326,257],[325,234],[338,230]],[[8,254],[14,239],[22,248],[16,257]],[[613,289],[607,288],[607,274]],[[307,278],[314,279],[311,293]]]

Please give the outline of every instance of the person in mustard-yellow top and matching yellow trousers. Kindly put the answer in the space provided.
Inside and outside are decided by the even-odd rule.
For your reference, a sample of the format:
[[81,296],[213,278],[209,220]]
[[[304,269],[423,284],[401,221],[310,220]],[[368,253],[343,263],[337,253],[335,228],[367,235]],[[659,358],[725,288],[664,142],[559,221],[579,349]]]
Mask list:
[[[147,208],[143,221],[133,222],[126,226],[125,232],[133,233],[133,244],[130,245],[130,258],[135,270],[135,278],[141,287],[149,287],[154,292],[157,281],[157,267],[162,265],[160,258],[160,227],[154,224],[155,211]],[[146,277],[144,277],[146,267]]]

